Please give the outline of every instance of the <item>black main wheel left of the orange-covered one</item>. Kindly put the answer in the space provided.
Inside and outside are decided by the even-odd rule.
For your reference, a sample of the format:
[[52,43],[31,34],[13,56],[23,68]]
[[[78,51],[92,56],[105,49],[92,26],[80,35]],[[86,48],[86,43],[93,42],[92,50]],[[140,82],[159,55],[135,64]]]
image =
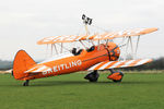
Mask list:
[[89,80],[90,82],[97,82],[98,77],[99,77],[99,74],[97,73],[97,71],[93,71],[84,76],[84,78]]

